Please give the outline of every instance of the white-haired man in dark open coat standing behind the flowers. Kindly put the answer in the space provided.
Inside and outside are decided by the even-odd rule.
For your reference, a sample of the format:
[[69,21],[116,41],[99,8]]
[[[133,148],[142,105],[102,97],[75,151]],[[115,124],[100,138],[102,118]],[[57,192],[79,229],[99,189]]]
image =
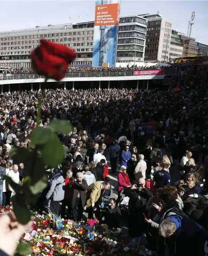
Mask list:
[[83,173],[77,173],[77,179],[69,183],[72,188],[71,214],[74,221],[81,221],[86,202],[86,191],[88,190],[87,182],[83,179]]

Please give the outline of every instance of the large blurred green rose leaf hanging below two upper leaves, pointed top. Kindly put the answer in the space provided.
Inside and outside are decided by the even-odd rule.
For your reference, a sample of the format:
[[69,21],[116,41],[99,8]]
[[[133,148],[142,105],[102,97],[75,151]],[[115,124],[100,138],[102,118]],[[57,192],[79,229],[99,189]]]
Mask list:
[[58,141],[54,133],[51,140],[48,141],[42,149],[42,157],[46,166],[57,167],[64,158],[63,145]]

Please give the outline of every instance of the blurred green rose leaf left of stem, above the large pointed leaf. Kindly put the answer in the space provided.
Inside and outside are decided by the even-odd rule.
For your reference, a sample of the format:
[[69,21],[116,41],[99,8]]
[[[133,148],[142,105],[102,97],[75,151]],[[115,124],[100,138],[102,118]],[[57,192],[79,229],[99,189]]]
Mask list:
[[31,143],[34,145],[41,145],[49,141],[51,138],[51,131],[42,127],[37,127],[31,132]]

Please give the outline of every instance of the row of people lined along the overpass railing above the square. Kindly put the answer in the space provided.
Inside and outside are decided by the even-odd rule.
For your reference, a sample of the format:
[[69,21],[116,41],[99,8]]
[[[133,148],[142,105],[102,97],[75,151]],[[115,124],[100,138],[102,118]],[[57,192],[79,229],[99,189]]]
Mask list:
[[[139,65],[132,65],[127,67],[68,67],[67,72],[101,72],[101,71],[122,71],[122,70],[145,70],[145,69],[163,69],[167,68],[167,66],[139,66]],[[11,67],[10,68],[11,74],[19,74],[19,73],[34,73],[32,68],[29,67]]]

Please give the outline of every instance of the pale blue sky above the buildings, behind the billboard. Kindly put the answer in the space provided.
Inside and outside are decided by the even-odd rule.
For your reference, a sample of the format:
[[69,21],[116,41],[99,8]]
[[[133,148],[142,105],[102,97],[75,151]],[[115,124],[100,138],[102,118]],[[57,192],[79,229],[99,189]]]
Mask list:
[[[121,0],[120,16],[157,13],[158,9],[162,17],[173,21],[173,29],[185,35],[195,12],[192,37],[208,44],[208,1]],[[95,0],[0,0],[0,31],[93,21],[94,10]]]

